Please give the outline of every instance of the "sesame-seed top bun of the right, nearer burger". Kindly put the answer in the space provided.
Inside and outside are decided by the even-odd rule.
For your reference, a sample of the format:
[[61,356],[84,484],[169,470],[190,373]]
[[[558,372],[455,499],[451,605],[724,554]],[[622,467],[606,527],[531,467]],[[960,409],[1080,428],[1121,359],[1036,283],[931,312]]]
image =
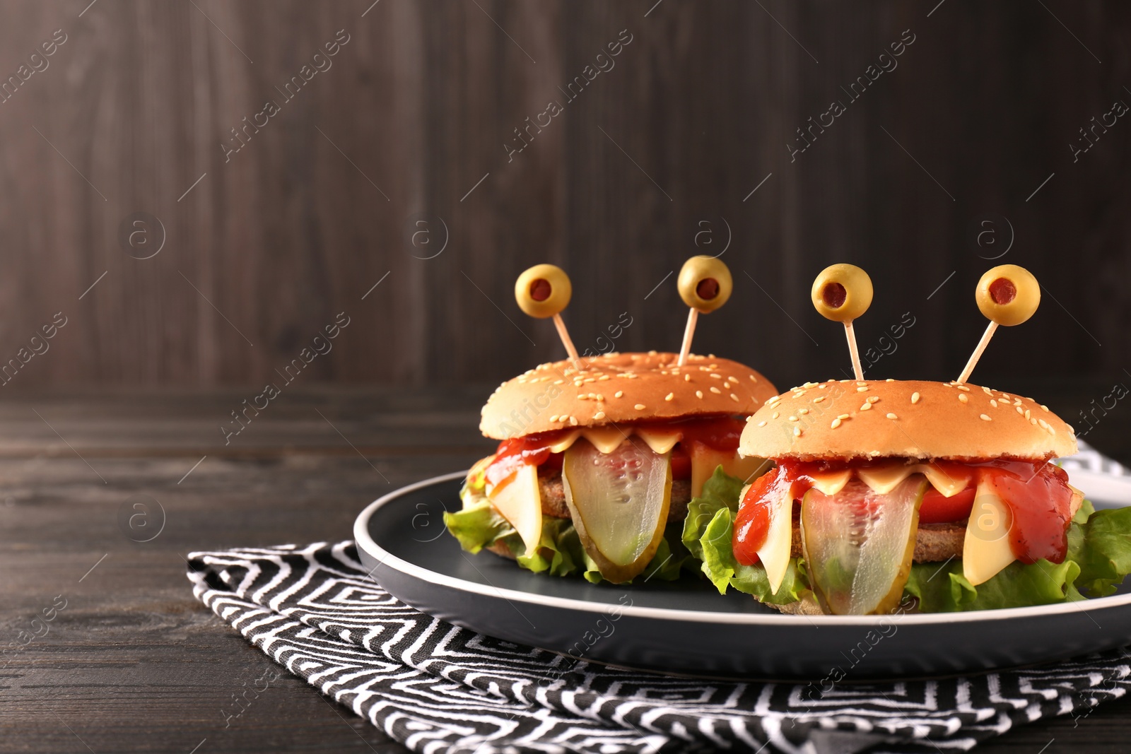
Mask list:
[[1077,452],[1047,407],[1000,390],[921,380],[806,382],[748,419],[739,452],[798,460],[1048,459]]

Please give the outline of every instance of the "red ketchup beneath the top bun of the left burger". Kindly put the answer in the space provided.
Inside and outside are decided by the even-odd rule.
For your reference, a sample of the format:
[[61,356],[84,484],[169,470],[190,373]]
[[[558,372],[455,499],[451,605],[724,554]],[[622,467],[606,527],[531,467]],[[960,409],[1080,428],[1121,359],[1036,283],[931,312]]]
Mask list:
[[[691,444],[700,443],[714,450],[736,452],[739,450],[739,439],[742,436],[742,428],[745,421],[731,416],[708,416],[706,418],[682,419],[675,422],[632,422],[619,424],[624,434],[631,434],[634,427],[648,430],[675,430],[683,434],[683,439],[672,449],[672,477],[675,479],[691,478]],[[551,432],[538,432],[524,437],[503,440],[495,451],[495,459],[486,470],[487,483],[492,486],[500,484],[513,474],[523,463],[532,466],[547,466],[561,468],[563,453],[551,453],[550,447],[563,436],[573,432],[569,430],[553,430]]]

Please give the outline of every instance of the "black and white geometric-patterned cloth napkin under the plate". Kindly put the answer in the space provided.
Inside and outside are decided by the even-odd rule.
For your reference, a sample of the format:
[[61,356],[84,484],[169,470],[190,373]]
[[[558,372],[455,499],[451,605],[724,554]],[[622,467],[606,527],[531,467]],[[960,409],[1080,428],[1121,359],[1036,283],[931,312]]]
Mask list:
[[276,662],[416,752],[934,753],[1085,717],[1131,688],[1125,652],[819,694],[594,665],[412,609],[366,577],[352,541],[192,553],[188,575]]

